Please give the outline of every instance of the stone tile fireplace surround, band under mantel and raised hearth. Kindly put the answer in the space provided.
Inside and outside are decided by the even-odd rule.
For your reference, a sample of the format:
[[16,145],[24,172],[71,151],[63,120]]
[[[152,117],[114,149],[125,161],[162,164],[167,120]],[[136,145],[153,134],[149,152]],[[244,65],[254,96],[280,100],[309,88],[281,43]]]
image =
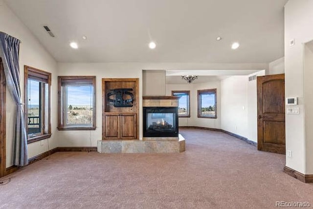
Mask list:
[[[144,96],[143,107],[178,107],[178,96]],[[179,153],[185,151],[185,139],[144,137],[142,140],[98,140],[100,153]]]

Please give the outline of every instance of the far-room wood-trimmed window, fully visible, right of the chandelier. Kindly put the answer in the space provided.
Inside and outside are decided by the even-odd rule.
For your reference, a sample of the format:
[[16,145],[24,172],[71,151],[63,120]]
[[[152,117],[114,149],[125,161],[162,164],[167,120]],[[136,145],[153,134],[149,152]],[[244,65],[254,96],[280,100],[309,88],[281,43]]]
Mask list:
[[198,117],[216,118],[216,89],[198,90]]

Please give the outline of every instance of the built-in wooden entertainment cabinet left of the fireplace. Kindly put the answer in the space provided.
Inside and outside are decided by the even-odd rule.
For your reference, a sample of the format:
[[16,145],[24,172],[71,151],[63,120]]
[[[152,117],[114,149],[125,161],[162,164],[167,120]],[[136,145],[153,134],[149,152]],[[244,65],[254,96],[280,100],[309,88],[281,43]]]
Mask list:
[[[138,88],[138,78],[102,79],[102,140],[138,139]],[[133,106],[114,107],[113,103],[108,100],[108,93],[114,89],[133,89],[130,91],[133,93]]]

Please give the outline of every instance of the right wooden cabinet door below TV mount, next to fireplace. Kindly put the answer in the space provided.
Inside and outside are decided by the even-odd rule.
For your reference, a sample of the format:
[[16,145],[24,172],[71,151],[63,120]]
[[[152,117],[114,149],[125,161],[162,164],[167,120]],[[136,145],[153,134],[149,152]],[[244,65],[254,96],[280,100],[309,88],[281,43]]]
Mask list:
[[125,114],[120,116],[120,138],[136,139],[137,138],[137,114]]

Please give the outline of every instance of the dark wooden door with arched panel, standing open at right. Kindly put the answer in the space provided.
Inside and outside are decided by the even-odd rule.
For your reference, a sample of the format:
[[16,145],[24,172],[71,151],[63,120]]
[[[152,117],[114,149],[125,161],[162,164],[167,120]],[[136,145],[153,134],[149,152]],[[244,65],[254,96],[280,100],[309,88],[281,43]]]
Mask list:
[[258,150],[285,154],[285,74],[257,77]]

